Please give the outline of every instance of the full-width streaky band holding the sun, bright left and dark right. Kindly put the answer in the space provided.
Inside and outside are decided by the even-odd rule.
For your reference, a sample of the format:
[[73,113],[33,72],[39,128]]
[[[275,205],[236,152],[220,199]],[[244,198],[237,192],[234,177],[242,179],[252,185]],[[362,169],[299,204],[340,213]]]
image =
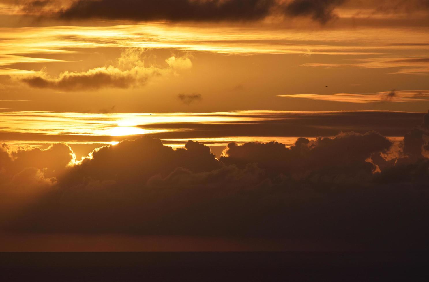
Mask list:
[[[365,133],[371,130],[397,137],[403,136],[410,126],[419,125],[422,116],[423,113],[378,111],[152,114],[2,112],[0,142],[109,144],[144,133],[166,140],[169,144],[183,144],[184,140],[196,139],[206,144],[225,145],[235,139],[265,142],[279,140],[279,137],[332,136],[341,131]],[[392,124],[393,119],[398,122]],[[290,144],[290,139],[286,140]]]

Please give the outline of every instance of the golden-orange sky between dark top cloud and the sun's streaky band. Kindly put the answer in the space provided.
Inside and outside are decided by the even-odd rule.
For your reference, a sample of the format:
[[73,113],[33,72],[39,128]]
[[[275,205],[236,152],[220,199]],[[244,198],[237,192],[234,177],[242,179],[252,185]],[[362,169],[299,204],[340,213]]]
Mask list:
[[[30,9],[31,1],[2,1],[0,99],[30,100],[0,102],[3,111],[422,112],[428,107],[413,99],[357,104],[362,99],[351,95],[317,98],[426,93],[428,16],[417,4],[393,9],[389,1],[379,6],[346,1],[332,7],[324,24],[274,12],[248,22],[58,18],[55,11],[71,2]],[[184,104],[180,93],[198,93],[201,99]],[[299,96],[304,94],[311,95]]]

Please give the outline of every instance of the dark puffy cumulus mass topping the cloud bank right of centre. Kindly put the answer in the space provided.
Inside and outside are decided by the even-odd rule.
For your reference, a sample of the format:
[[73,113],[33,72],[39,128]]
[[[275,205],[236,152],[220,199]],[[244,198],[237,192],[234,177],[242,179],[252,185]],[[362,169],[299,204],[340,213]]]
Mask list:
[[299,138],[290,148],[278,142],[231,143],[225,151],[226,156],[220,160],[239,167],[256,162],[263,169],[284,174],[321,170],[329,174],[357,174],[360,170],[371,172],[373,167],[366,159],[373,152],[387,151],[391,145],[389,140],[375,132],[347,132],[333,138],[319,137],[314,141]]

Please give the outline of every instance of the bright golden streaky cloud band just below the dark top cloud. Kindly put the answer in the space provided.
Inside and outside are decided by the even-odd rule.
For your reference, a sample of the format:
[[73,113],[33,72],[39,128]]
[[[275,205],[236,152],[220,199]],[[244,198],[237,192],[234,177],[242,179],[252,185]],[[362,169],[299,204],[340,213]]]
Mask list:
[[[363,29],[317,30],[307,33],[301,30],[278,29],[269,24],[258,27],[165,23],[130,24],[111,27],[38,27],[2,28],[0,38],[0,66],[18,63],[67,64],[61,59],[47,58],[52,54],[79,53],[88,48],[162,48],[211,53],[289,53],[326,55],[374,55],[389,50],[408,50],[408,46],[396,45],[398,36],[405,42],[428,43],[426,30]],[[363,42],[362,38],[365,38]],[[389,46],[390,43],[390,46]],[[427,54],[429,45],[413,46],[416,56]],[[401,59],[403,56],[387,59]],[[371,62],[360,63],[369,65]],[[383,63],[379,62],[378,64]],[[385,62],[416,65],[424,62]],[[347,66],[347,65],[344,65]],[[349,65],[357,66],[360,65]]]

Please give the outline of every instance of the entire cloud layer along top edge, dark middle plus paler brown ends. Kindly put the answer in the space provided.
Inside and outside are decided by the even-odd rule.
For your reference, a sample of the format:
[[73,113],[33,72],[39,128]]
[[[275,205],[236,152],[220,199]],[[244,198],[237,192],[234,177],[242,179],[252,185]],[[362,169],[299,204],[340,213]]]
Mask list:
[[132,19],[141,21],[255,21],[271,15],[307,16],[324,24],[336,17],[338,6],[372,9],[373,13],[401,13],[428,9],[426,0],[2,0],[15,11],[60,18]]

